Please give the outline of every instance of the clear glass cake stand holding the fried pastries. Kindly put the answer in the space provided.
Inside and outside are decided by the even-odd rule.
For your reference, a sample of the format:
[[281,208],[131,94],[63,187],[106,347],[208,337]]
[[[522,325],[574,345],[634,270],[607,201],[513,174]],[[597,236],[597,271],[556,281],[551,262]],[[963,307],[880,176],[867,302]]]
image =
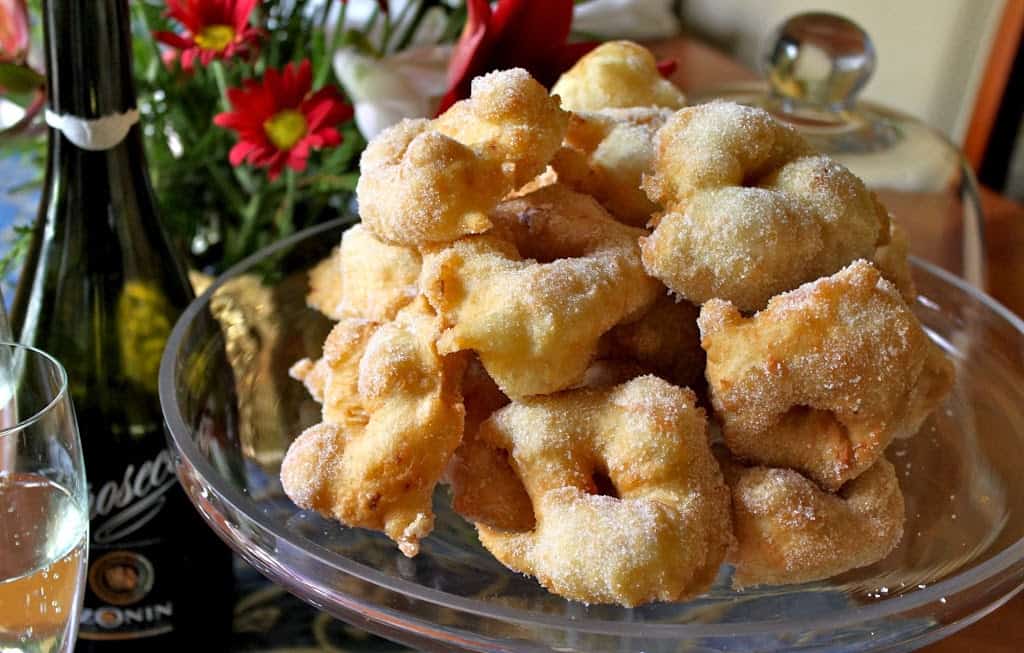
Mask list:
[[[182,315],[160,396],[178,473],[210,526],[296,596],[426,650],[900,651],[945,637],[1024,582],[1024,322],[965,281],[916,261],[915,312],[955,360],[948,401],[889,450],[907,524],[886,560],[826,581],[730,587],[686,603],[587,606],[502,567],[445,489],[415,559],[379,533],[297,510],[282,456],[319,409],[287,374],[316,356],[329,322],[305,307],[306,270],[351,219],[242,262]],[[601,533],[594,533],[600,537]]]

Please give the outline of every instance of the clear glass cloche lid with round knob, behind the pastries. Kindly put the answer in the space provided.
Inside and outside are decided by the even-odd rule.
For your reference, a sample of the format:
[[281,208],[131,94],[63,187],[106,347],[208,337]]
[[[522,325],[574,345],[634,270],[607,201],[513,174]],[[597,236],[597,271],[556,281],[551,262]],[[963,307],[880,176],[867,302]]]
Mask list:
[[710,89],[762,106],[848,167],[878,193],[907,231],[912,254],[984,286],[977,181],[961,151],[910,116],[857,99],[874,72],[876,52],[855,23],[801,13],[783,23],[761,58],[765,81]]

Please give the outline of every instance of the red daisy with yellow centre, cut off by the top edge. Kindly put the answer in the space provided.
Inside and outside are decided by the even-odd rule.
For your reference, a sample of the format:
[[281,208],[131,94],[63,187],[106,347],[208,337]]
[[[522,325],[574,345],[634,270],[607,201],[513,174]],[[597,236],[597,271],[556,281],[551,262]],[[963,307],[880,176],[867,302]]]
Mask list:
[[162,43],[181,50],[181,68],[190,71],[217,58],[244,54],[260,31],[249,25],[258,0],[167,0],[167,15],[184,27],[184,34],[154,32]]

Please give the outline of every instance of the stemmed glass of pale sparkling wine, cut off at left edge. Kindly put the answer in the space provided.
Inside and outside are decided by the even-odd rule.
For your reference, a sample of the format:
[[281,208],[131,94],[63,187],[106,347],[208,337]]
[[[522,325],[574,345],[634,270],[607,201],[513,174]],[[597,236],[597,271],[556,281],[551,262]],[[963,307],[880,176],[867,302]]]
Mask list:
[[0,651],[74,648],[88,511],[63,367],[38,349],[0,342]]

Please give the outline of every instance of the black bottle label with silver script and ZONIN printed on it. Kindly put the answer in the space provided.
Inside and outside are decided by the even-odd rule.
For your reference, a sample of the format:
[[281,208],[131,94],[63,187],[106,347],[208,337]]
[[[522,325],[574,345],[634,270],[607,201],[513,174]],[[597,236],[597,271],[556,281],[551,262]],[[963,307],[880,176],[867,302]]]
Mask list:
[[79,637],[130,640],[173,629],[170,542],[159,525],[177,483],[167,449],[89,488],[89,571]]

